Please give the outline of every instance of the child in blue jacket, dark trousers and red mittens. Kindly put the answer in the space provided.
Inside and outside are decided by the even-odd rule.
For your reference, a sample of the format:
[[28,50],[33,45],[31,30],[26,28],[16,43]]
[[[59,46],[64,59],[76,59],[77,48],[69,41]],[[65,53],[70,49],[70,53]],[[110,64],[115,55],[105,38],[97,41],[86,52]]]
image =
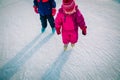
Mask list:
[[52,33],[55,32],[54,15],[56,13],[55,0],[34,0],[34,11],[40,15],[42,24],[41,32],[43,33],[47,27],[47,20],[52,28]]

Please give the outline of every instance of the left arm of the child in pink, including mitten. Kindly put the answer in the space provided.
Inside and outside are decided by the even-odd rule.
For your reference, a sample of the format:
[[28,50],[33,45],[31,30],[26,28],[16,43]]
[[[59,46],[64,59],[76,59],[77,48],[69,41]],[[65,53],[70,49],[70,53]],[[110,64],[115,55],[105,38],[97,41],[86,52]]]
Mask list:
[[56,28],[56,32],[59,35],[61,33],[60,29],[62,26],[62,20],[61,20],[61,13],[58,13],[56,18],[55,18],[55,28]]

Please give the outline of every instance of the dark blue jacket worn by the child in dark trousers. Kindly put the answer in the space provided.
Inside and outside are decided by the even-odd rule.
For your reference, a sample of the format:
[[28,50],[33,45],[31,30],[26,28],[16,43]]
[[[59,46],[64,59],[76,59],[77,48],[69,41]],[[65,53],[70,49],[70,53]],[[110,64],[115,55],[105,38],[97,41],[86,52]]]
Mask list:
[[38,12],[40,15],[51,15],[52,14],[52,8],[56,8],[56,2],[54,0],[48,0],[48,2],[38,2],[37,0],[33,1],[34,6],[38,7]]

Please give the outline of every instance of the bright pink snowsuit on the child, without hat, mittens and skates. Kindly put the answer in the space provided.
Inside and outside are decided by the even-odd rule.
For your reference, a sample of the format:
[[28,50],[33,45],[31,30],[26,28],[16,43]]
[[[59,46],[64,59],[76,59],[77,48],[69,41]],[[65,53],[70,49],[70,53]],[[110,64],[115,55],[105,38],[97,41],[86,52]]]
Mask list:
[[62,41],[64,44],[69,42],[74,44],[78,40],[78,26],[83,30],[86,28],[84,17],[76,6],[76,12],[65,14],[61,7],[55,19],[55,28],[57,32],[62,29]]

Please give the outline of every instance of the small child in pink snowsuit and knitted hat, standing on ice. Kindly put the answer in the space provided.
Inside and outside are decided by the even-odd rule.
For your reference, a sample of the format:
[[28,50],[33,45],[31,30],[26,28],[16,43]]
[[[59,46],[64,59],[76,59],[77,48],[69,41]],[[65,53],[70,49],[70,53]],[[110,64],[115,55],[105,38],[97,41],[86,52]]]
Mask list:
[[74,0],[63,0],[55,18],[55,28],[57,34],[62,32],[62,41],[64,50],[67,49],[69,43],[73,47],[78,41],[78,27],[82,30],[82,34],[86,35],[86,24]]

